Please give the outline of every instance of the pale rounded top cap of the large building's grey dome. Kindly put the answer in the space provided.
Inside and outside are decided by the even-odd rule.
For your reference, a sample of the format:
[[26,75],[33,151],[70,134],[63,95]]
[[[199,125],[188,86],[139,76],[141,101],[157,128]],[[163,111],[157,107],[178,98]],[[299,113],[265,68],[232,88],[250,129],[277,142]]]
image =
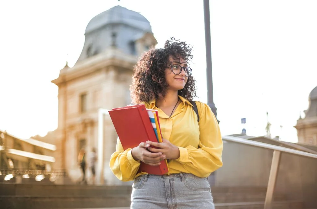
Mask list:
[[86,34],[105,25],[118,23],[123,23],[146,32],[152,31],[150,22],[143,15],[121,6],[115,6],[91,19],[86,27]]

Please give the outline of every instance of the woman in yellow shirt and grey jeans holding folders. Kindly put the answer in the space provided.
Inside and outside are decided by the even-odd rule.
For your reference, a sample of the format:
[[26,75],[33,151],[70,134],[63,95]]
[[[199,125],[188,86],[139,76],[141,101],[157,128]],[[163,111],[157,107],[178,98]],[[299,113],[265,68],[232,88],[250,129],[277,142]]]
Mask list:
[[[209,106],[196,96],[188,67],[191,47],[166,41],[163,49],[146,51],[137,62],[131,85],[134,104],[159,111],[163,143],[146,141],[123,150],[120,140],[110,167],[122,181],[134,180],[131,208],[214,208],[208,176],[222,166],[223,142]],[[153,145],[158,148],[151,148]],[[168,160],[169,174],[138,172],[140,161],[152,166]]]

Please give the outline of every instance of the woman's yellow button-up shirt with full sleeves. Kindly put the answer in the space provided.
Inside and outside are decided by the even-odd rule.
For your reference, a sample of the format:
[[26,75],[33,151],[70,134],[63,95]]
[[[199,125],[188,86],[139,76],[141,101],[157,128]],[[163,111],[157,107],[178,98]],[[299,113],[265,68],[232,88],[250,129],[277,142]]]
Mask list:
[[[196,101],[197,115],[191,103],[178,96],[182,101],[171,117],[155,106],[155,100],[145,103],[146,108],[157,109],[162,136],[178,146],[180,156],[168,163],[169,173],[192,173],[198,177],[207,177],[222,167],[223,142],[217,119],[210,107]],[[131,148],[123,150],[117,140],[116,151],[111,155],[110,168],[122,181],[130,181],[144,172],[138,173],[140,161],[134,160]]]

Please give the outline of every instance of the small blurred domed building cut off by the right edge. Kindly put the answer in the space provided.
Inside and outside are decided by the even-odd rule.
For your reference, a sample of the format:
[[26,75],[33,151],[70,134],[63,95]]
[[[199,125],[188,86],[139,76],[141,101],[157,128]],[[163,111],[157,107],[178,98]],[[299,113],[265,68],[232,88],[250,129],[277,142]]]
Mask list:
[[305,118],[297,121],[298,142],[317,146],[317,86],[309,94]]

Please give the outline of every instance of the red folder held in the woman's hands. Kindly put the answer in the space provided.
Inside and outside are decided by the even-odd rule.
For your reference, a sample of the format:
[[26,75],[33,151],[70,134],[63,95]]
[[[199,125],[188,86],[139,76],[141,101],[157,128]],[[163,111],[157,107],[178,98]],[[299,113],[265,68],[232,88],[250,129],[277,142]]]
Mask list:
[[[113,108],[109,110],[109,115],[124,150],[137,147],[147,140],[157,142],[144,104]],[[163,175],[168,173],[168,166],[166,160],[162,160],[159,166],[150,166],[141,161],[139,172]]]

